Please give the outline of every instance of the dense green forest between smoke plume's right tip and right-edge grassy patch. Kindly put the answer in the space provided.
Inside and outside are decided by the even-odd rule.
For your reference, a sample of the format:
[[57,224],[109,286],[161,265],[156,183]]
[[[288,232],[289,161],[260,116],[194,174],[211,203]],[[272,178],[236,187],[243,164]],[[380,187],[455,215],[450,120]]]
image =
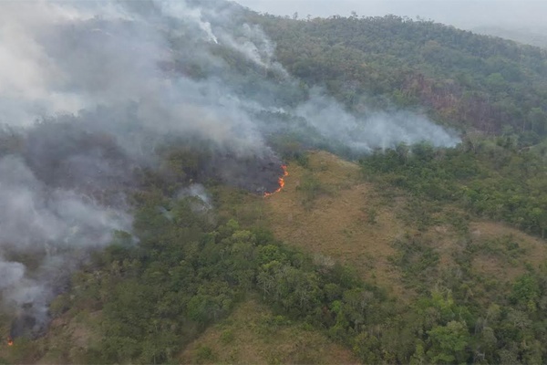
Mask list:
[[544,237],[544,158],[535,151],[518,151],[504,138],[449,151],[435,151],[427,145],[410,151],[402,145],[377,152],[361,164],[377,183],[391,184],[432,202],[459,203],[472,214]]

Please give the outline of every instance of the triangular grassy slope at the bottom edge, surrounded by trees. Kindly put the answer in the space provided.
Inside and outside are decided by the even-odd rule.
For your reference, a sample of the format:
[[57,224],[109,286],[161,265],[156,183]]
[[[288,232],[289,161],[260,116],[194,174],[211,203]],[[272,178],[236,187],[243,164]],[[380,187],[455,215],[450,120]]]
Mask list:
[[274,316],[256,299],[207,329],[181,354],[181,363],[356,363],[349,349],[314,328]]

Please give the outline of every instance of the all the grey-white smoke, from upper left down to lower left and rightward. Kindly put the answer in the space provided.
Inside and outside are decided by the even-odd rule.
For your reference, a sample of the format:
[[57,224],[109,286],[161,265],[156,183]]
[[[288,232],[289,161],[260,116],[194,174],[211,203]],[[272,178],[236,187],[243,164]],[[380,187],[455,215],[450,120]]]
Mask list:
[[0,25],[0,291],[37,327],[82,257],[130,231],[124,189],[165,143],[201,141],[226,183],[252,166],[260,191],[281,165],[267,116],[360,152],[459,141],[424,117],[354,116],[300,89],[233,3],[3,2]]

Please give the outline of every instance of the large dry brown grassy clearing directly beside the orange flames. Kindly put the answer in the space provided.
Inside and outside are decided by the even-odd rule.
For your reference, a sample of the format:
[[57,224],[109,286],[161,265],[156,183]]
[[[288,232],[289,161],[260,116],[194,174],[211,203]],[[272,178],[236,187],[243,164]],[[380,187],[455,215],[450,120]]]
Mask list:
[[[404,231],[394,207],[382,205],[373,186],[359,178],[358,166],[321,151],[310,154],[309,166],[291,164],[284,190],[266,199],[274,234],[315,254],[356,267],[366,279],[396,293],[397,272],[387,264],[394,254],[390,243]],[[318,196],[306,200],[301,185],[320,183]],[[377,210],[377,224],[368,223],[368,210]]]

